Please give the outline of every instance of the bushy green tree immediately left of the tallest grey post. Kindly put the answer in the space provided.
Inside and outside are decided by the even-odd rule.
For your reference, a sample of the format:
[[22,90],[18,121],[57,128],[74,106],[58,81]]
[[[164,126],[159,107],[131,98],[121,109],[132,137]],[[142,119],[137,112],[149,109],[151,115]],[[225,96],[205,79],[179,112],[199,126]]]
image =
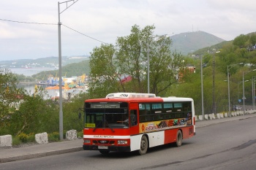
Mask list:
[[41,133],[46,130],[45,127],[52,122],[55,105],[52,101],[45,100],[45,96],[47,96],[46,91],[42,88],[39,88],[34,95],[27,91],[24,93],[19,108],[10,117],[12,134]]

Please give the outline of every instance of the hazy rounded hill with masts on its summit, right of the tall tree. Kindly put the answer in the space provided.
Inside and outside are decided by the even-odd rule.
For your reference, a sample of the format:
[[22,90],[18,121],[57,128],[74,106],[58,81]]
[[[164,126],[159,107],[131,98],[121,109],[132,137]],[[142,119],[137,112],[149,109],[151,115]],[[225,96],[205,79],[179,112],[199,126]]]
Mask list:
[[188,55],[196,50],[204,47],[210,47],[224,42],[224,39],[220,39],[217,36],[208,34],[204,31],[186,32],[177,35],[170,36],[173,40],[172,50],[177,50],[182,55]]

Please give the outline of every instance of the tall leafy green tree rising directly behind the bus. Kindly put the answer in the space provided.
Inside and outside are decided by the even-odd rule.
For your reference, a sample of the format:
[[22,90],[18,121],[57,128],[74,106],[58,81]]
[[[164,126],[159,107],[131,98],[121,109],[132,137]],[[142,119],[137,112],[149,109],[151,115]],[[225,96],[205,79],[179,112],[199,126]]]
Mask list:
[[[147,61],[150,58],[150,93],[161,93],[177,81],[178,70],[184,64],[184,56],[170,51],[171,40],[166,36],[154,36],[154,26],[132,26],[131,34],[118,37],[116,46],[102,45],[91,53],[90,92],[147,91]],[[124,77],[132,81],[124,83]]]

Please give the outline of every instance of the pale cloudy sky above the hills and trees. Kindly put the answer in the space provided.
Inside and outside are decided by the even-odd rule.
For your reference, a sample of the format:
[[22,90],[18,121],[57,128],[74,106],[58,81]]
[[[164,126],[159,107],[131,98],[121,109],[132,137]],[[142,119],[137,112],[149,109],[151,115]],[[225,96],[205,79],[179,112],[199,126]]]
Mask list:
[[8,0],[0,5],[0,61],[58,57],[58,7],[62,56],[115,45],[135,25],[154,25],[155,35],[205,31],[227,41],[256,31],[255,0]]

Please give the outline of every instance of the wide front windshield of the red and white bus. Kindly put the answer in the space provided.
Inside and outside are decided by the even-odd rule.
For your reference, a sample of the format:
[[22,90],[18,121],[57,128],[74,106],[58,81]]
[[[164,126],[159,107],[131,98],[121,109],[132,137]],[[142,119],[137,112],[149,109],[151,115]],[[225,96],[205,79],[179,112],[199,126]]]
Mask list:
[[124,108],[86,108],[85,128],[128,128],[129,116]]

